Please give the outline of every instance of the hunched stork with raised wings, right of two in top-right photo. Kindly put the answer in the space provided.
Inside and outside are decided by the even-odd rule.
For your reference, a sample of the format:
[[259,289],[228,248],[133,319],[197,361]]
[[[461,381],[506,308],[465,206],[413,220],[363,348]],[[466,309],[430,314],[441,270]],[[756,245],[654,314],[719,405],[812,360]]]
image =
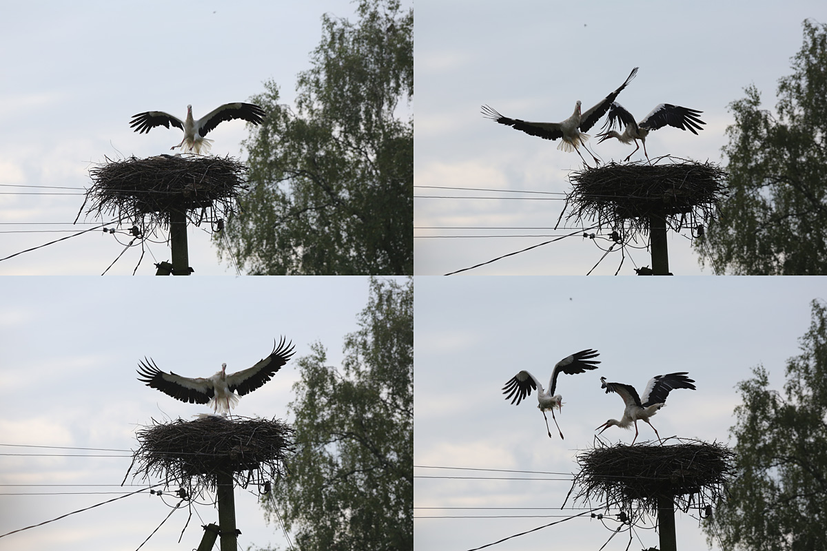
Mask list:
[[[608,140],[609,138],[617,138],[623,144],[631,144],[634,142],[634,151],[626,158],[628,161],[635,151],[640,149],[640,144],[638,144],[638,140],[640,140],[643,143],[643,154],[646,155],[649,164],[652,164],[652,160],[649,159],[649,154],[646,152],[646,136],[649,135],[649,132],[656,131],[658,128],[663,128],[664,126],[674,126],[675,128],[688,130],[691,131],[692,134],[698,135],[696,129],[704,130],[700,125],[706,124],[698,118],[700,113],[702,113],[702,111],[697,111],[696,109],[672,105],[672,103],[661,103],[645,116],[643,121],[635,122],[632,113],[626,111],[618,102],[612,102],[609,108],[609,117],[603,126],[604,130],[608,128],[609,131],[598,134],[600,140],[598,140],[597,143],[600,144],[601,141]],[[623,134],[614,131],[614,127],[620,126],[620,122],[626,125]]]

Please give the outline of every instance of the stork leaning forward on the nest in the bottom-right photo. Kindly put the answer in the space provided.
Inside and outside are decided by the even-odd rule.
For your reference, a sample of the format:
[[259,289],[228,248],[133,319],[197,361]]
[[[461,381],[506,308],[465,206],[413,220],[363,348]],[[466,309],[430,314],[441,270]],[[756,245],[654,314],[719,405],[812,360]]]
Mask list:
[[689,388],[690,390],[695,390],[695,385],[692,384],[695,381],[686,377],[688,374],[688,372],[683,371],[681,373],[656,375],[655,377],[649,379],[649,382],[646,385],[646,390],[643,392],[643,401],[641,401],[641,398],[638,397],[638,391],[636,391],[632,385],[627,385],[622,382],[606,382],[606,378],[601,377],[601,388],[606,389],[606,394],[609,392],[617,392],[620,397],[623,398],[623,401],[626,404],[626,409],[623,412],[623,419],[607,420],[603,425],[597,427],[597,429],[602,429],[597,434],[603,434],[603,431],[608,429],[610,426],[619,426],[621,429],[630,429],[632,428],[632,423],[634,423],[634,439],[632,440],[632,444],[634,444],[634,440],[638,439],[639,419],[646,421],[648,425],[652,427],[652,430],[655,431],[655,435],[657,435],[657,441],[662,444],[661,435],[658,435],[657,429],[652,426],[652,423],[649,423],[649,417],[655,415],[657,410],[661,409],[663,406],[666,406],[665,402],[667,401],[667,396],[669,396],[670,391],[676,388]]

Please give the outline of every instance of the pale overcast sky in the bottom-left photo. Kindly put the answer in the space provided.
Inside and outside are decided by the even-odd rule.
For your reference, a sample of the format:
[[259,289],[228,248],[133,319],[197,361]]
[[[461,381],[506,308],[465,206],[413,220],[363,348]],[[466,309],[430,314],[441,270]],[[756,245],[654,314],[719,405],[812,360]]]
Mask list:
[[[0,287],[0,377],[7,389],[0,444],[136,449],[135,430],[155,420],[210,411],[176,401],[137,381],[145,356],[190,377],[248,368],[284,335],[295,355],[264,387],[242,397],[242,416],[289,419],[296,360],[310,344],[341,365],[344,335],[358,329],[367,278],[4,278]],[[143,282],[143,283],[141,283]],[[131,492],[117,487],[131,457],[21,457],[7,454],[107,454],[0,446],[0,534],[77,511],[117,494],[13,496],[12,492]],[[117,454],[117,453],[114,453]],[[125,454],[131,456],[129,452]],[[151,481],[157,482],[157,481]],[[8,484],[43,484],[12,487]],[[79,484],[84,486],[54,486]],[[112,485],[90,487],[92,484]],[[173,488],[173,490],[176,488]],[[251,488],[251,491],[255,491]],[[241,549],[284,543],[266,525],[257,496],[237,489]],[[167,500],[174,504],[175,500]],[[187,511],[176,512],[145,549],[194,549],[201,525],[217,521],[198,506],[181,544]],[[0,548],[134,551],[170,512],[158,497],[139,494],[49,525],[0,539]]]

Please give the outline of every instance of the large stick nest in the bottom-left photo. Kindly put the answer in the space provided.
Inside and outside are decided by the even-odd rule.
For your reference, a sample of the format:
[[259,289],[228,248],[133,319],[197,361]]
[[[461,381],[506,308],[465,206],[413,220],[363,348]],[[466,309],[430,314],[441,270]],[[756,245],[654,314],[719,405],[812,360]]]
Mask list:
[[232,473],[241,487],[275,481],[286,473],[284,459],[294,452],[294,430],[280,420],[204,416],[152,422],[137,431],[133,476],[184,487],[190,496],[214,490],[217,473]]

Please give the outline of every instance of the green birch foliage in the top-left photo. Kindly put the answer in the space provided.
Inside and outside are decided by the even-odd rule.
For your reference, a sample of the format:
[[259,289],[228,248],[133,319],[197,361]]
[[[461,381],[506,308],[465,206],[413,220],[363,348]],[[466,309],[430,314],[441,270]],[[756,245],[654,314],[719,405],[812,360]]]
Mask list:
[[323,16],[297,113],[275,82],[252,101],[268,113],[249,150],[251,190],[217,239],[255,274],[414,271],[414,14],[361,0],[358,24]]

